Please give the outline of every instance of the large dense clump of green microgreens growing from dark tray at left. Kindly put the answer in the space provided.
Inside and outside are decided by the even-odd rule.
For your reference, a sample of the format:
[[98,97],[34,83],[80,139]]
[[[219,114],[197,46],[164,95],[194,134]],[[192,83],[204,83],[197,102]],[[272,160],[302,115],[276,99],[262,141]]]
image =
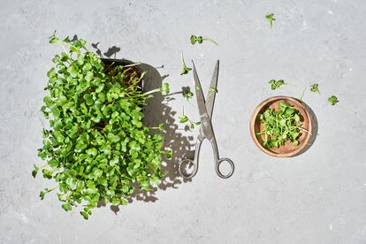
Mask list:
[[50,43],[65,51],[47,73],[42,112],[50,129],[43,129],[38,153],[47,163],[34,165],[32,175],[42,171],[58,184],[42,190],[42,199],[58,189],[63,209],[82,204],[88,219],[97,202],[126,204],[135,188],[149,191],[163,177],[163,137],[142,124],[142,107],[154,92],[169,93],[169,85],[143,94],[143,73],[133,65],[105,67],[81,39],[61,42],[53,34]]

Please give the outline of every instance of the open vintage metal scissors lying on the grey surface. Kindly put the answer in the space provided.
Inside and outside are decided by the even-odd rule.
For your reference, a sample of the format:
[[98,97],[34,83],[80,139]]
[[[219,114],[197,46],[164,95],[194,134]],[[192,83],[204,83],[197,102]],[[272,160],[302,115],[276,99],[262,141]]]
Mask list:
[[[205,101],[202,87],[200,80],[198,79],[197,71],[194,66],[194,62],[192,61],[193,65],[193,73],[194,73],[194,88],[195,88],[195,95],[197,97],[197,103],[198,103],[198,111],[200,113],[201,118],[201,128],[200,133],[197,136],[197,141],[195,143],[195,149],[194,149],[194,159],[188,159],[185,158],[181,160],[178,164],[178,171],[180,176],[191,179],[194,177],[194,175],[198,171],[198,157],[200,155],[200,149],[202,145],[202,141],[204,139],[207,139],[210,141],[213,154],[214,154],[214,160],[215,160],[215,172],[217,173],[217,176],[227,179],[233,175],[234,172],[234,164],[233,161],[230,158],[226,157],[219,157],[218,156],[218,149],[217,149],[217,141],[215,138],[215,133],[212,128],[211,118],[212,118],[212,111],[213,106],[215,103],[215,96],[216,92],[209,92],[207,102]],[[217,88],[217,80],[218,80],[218,65],[219,61],[217,60],[215,70],[212,75],[212,80],[210,84],[210,90],[215,90]],[[220,171],[220,164],[226,162],[226,164],[229,164],[230,166],[230,172],[228,173],[222,173]],[[187,165],[193,166],[193,171],[190,173],[184,172],[184,167],[187,167]]]

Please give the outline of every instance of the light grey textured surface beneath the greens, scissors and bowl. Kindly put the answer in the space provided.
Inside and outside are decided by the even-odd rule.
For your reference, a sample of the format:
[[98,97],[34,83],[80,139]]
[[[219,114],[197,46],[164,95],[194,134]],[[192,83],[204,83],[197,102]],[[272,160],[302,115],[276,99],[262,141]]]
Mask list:
[[[1,243],[366,243],[365,1],[14,0],[1,6]],[[269,12],[277,18],[272,29],[264,19]],[[197,176],[167,179],[172,182],[149,197],[155,202],[134,200],[117,214],[103,207],[85,221],[78,211],[62,210],[56,194],[41,201],[39,191],[52,182],[30,172],[42,163],[36,156],[46,125],[42,88],[50,58],[60,51],[48,43],[54,29],[100,42],[103,51],[116,45],[117,57],[164,65],[158,72],[170,75],[173,92],[192,79],[179,76],[180,52],[196,61],[203,87],[219,58],[213,124],[221,155],[236,164],[233,177],[217,178],[205,143]],[[219,45],[192,46],[190,34]],[[273,78],[297,87],[271,91]],[[287,159],[261,153],[248,133],[256,104],[271,95],[299,97],[312,82],[322,93],[304,96],[319,124],[312,148]],[[340,106],[327,103],[332,94]],[[197,111],[173,97],[164,105],[177,112],[169,136],[187,143],[191,133],[173,120],[183,104],[195,119]]]

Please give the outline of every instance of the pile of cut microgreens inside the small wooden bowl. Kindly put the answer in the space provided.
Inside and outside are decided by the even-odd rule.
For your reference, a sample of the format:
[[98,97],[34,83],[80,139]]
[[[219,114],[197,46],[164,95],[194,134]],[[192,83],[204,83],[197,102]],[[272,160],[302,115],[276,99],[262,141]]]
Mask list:
[[301,114],[289,103],[279,102],[277,111],[267,108],[258,116],[263,123],[263,130],[255,134],[263,135],[263,147],[278,148],[286,141],[292,141],[294,146],[299,145]]

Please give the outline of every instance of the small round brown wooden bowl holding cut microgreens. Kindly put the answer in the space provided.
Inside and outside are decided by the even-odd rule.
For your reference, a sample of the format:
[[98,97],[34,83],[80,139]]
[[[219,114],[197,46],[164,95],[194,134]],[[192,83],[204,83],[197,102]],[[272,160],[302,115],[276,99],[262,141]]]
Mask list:
[[[301,130],[300,136],[298,138],[299,145],[294,146],[293,142],[286,141],[283,146],[279,148],[264,148],[263,147],[263,135],[256,136],[255,133],[261,132],[263,130],[263,123],[260,121],[258,114],[263,113],[267,108],[272,108],[278,111],[278,103],[279,102],[286,102],[294,106],[294,109],[298,110],[301,114]],[[289,97],[285,95],[278,95],[272,96],[262,103],[260,103],[252,114],[250,118],[250,134],[252,136],[253,141],[255,141],[255,145],[261,149],[264,153],[271,155],[271,156],[278,156],[278,157],[288,157],[288,156],[295,156],[305,148],[308,144],[310,136],[311,136],[311,118],[309,116],[309,112],[305,108],[305,106],[294,97]]]

